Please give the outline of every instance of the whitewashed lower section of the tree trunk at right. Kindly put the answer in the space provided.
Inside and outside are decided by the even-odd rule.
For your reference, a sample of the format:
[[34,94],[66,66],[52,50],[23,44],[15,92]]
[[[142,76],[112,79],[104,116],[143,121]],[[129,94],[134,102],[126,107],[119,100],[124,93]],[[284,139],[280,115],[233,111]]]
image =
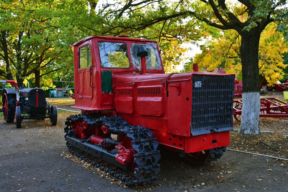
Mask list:
[[260,93],[242,93],[242,115],[239,133],[259,134]]

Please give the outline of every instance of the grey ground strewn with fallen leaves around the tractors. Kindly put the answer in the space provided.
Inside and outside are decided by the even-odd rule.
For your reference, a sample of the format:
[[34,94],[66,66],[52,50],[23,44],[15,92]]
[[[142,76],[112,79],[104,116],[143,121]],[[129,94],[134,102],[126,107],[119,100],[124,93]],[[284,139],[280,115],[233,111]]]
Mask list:
[[[56,100],[49,102],[61,108],[73,104],[73,100],[61,104]],[[68,115],[59,111],[58,124],[54,127],[50,126],[48,119],[23,121],[21,129],[16,129],[15,123],[0,121],[0,191],[288,191],[287,161],[226,151],[219,161],[199,167],[192,163],[194,159],[185,157],[179,160],[177,154],[164,149],[160,149],[158,181],[131,188],[121,187],[82,160],[69,157],[63,132]],[[262,129],[286,133],[287,124],[287,118],[271,120]],[[251,138],[238,136],[237,132],[231,132],[229,148],[243,151],[252,148],[255,151],[258,147],[262,154],[281,155],[267,146],[261,148],[262,144],[258,144],[257,139],[249,144]],[[270,136],[267,134],[266,137]],[[286,155],[287,137],[280,139],[271,139],[275,140],[272,144]]]

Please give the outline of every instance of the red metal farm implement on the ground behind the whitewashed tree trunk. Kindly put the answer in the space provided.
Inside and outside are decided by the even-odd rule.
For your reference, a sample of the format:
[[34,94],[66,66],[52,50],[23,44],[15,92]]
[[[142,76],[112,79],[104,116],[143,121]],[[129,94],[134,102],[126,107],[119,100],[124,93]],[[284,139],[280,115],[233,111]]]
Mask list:
[[[241,121],[242,100],[234,101],[233,116]],[[288,117],[288,103],[277,98],[260,99],[259,117]]]

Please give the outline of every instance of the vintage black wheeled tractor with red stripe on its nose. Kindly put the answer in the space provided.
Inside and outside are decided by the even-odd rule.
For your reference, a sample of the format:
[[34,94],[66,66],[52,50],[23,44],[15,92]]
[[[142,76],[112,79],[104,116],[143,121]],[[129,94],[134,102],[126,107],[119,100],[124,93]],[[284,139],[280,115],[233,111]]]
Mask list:
[[57,107],[56,105],[50,107],[43,89],[25,88],[24,83],[16,83],[13,80],[3,81],[2,83],[14,84],[14,88],[5,88],[2,93],[2,110],[7,123],[12,123],[16,119],[16,127],[21,128],[23,119],[41,120],[50,118],[52,126],[56,125]]

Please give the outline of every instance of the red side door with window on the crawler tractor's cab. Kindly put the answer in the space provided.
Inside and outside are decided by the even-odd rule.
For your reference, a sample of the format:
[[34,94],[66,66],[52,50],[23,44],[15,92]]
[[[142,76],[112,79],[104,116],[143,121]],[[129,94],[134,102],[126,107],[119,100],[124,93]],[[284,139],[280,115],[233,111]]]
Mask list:
[[78,51],[78,98],[91,100],[93,98],[92,61],[90,45],[84,45]]

